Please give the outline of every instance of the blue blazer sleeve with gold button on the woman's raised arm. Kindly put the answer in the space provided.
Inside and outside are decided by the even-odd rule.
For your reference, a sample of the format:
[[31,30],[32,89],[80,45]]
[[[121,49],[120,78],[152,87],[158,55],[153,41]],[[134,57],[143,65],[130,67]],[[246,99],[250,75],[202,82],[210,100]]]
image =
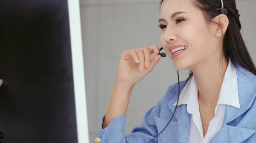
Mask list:
[[[126,115],[114,118],[108,127],[102,129],[104,115],[97,137],[101,140],[101,143],[148,143],[158,134],[154,116],[159,116],[164,102],[163,98],[158,101],[157,105],[151,107],[145,113],[143,123],[140,126],[136,126],[127,136],[124,136]],[[157,138],[151,143],[157,143]]]

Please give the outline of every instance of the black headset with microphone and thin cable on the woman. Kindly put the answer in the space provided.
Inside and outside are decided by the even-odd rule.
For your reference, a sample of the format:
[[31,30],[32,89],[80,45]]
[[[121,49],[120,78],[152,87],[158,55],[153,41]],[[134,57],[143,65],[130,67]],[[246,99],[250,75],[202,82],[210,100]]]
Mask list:
[[[224,4],[223,4],[223,0],[221,0],[221,8],[216,8],[215,11],[212,12],[212,14],[214,16],[217,16],[218,15],[218,12],[217,11],[221,11],[221,14],[225,14],[227,15],[227,9],[224,8]],[[163,50],[163,47],[160,48],[160,51]],[[166,53],[160,53],[159,51],[159,55],[161,55],[161,57],[166,57]],[[169,120],[169,122],[167,123],[167,125],[162,129],[162,131],[160,133],[158,133],[152,140],[150,140],[148,143],[151,143],[155,138],[157,138],[165,129],[166,127],[169,125],[169,123],[172,121],[172,118],[175,114],[175,111],[177,109],[177,106],[178,106],[178,102],[179,102],[179,98],[180,98],[180,77],[179,77],[179,71],[177,71],[177,76],[178,76],[178,84],[179,84],[179,91],[178,91],[178,99],[177,99],[177,104],[176,104],[176,107],[175,107],[175,110],[172,114],[172,117],[171,119]]]

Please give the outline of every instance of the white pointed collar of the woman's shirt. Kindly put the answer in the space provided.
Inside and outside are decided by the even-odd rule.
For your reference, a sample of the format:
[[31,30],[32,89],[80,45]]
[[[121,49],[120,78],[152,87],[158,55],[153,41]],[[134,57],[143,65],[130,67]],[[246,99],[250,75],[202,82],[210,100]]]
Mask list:
[[[176,106],[177,101],[174,106]],[[179,105],[187,104],[187,109],[191,109],[192,105],[198,104],[198,88],[195,83],[195,77],[188,81],[183,90],[180,92]],[[229,60],[227,70],[224,75],[218,104],[226,104],[240,109],[237,87],[236,67]]]

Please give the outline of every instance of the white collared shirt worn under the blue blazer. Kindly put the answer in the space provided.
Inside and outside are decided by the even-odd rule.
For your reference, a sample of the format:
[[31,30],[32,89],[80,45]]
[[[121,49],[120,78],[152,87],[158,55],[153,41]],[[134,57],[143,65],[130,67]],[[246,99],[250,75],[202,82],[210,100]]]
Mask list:
[[[176,106],[176,104],[177,101],[173,105]],[[199,112],[198,88],[194,76],[192,76],[191,80],[180,93],[178,105],[181,104],[187,104],[187,111],[191,114],[189,143],[209,143],[212,137],[214,137],[222,127],[226,105],[240,108],[236,68],[233,67],[230,60],[221,86],[218,103],[215,107],[215,117],[210,121],[205,137],[203,135],[203,126]]]

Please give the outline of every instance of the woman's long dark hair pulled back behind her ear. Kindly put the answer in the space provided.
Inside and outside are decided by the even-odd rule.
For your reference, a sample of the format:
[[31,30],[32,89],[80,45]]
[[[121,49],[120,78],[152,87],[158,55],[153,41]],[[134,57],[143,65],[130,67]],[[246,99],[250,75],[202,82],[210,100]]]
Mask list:
[[[160,1],[160,6],[163,0]],[[239,20],[239,11],[236,9],[236,0],[223,0],[224,8],[227,9],[227,17],[229,25],[224,34],[223,39],[223,55],[230,58],[231,63],[237,68],[237,64],[244,69],[250,71],[256,76],[256,67],[244,43],[244,39],[240,33],[241,23]],[[201,9],[206,20],[213,22],[212,19],[216,13],[217,8],[221,8],[221,0],[195,0],[195,6]],[[186,82],[192,77],[193,73],[189,71],[189,77]]]

